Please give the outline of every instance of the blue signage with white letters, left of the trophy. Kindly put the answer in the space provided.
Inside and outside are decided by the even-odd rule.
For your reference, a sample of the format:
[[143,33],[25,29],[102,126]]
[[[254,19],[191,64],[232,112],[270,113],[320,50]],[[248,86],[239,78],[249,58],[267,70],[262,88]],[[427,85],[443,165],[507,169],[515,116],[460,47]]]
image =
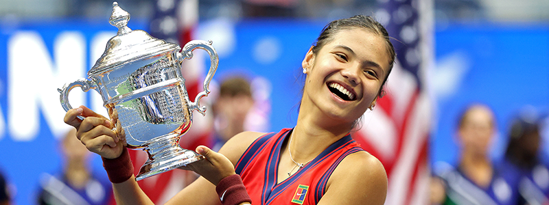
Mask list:
[[[143,23],[134,20],[132,27]],[[36,204],[44,172],[60,172],[58,140],[68,131],[58,88],[79,78],[102,55],[116,28],[108,23],[32,22],[0,24],[0,172],[12,184],[15,204]],[[106,114],[100,95],[74,89],[73,107]],[[101,167],[97,156],[92,168]],[[103,175],[103,172],[97,172]]]

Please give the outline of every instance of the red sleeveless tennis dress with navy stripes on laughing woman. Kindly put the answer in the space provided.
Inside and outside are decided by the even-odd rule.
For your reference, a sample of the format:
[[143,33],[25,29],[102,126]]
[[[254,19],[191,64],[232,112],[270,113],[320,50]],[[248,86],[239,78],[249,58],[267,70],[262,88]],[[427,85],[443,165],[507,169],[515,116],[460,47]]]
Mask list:
[[277,184],[281,146],[290,131],[283,128],[279,133],[259,137],[237,162],[236,173],[242,176],[253,204],[317,204],[329,177],[345,156],[364,151],[348,134]]

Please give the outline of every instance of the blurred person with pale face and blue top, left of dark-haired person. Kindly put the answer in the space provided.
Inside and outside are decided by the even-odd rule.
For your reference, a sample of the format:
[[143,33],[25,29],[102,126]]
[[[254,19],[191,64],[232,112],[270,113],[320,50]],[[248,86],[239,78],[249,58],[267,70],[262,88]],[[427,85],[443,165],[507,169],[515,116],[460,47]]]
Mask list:
[[[485,105],[472,105],[460,116],[457,133],[460,159],[457,167],[440,164],[435,167],[446,196],[434,197],[443,200],[433,204],[517,203],[515,178],[506,176],[489,158],[494,132],[495,118]],[[432,180],[432,184],[437,181]]]

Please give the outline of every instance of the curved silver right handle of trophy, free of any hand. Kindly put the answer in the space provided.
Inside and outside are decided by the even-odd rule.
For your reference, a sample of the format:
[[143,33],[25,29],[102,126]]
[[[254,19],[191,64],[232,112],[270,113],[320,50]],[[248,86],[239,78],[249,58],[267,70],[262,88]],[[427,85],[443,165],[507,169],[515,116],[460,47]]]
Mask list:
[[189,103],[190,111],[196,109],[202,115],[205,115],[206,107],[200,106],[200,99],[204,96],[208,96],[210,93],[210,81],[213,78],[213,74],[215,74],[215,70],[218,70],[219,64],[218,52],[213,49],[211,43],[211,40],[191,40],[183,46],[183,50],[181,51],[185,59],[191,59],[193,57],[192,51],[194,51],[194,49],[204,49],[210,55],[210,70],[208,71],[206,79],[204,79],[204,90],[196,95],[194,102]]

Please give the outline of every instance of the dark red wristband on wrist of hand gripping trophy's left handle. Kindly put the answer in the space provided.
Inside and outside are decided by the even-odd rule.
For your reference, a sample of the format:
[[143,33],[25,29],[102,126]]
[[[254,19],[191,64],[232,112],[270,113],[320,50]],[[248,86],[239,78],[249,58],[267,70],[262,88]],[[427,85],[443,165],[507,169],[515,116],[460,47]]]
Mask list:
[[108,180],[115,184],[125,182],[133,175],[133,165],[128,148],[124,148],[122,154],[115,159],[103,159],[103,167],[107,171]]

